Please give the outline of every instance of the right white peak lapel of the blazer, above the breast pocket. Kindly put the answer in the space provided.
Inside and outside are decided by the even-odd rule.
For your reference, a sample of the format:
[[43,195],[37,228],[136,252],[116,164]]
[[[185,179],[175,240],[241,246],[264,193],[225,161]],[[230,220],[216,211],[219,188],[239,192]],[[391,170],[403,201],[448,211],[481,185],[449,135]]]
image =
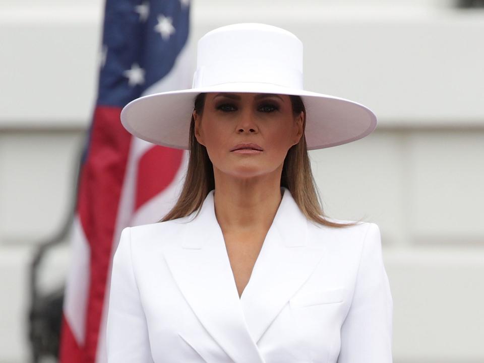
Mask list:
[[274,221],[240,299],[256,343],[323,257],[324,245],[311,246],[307,229],[306,216],[284,188]]

